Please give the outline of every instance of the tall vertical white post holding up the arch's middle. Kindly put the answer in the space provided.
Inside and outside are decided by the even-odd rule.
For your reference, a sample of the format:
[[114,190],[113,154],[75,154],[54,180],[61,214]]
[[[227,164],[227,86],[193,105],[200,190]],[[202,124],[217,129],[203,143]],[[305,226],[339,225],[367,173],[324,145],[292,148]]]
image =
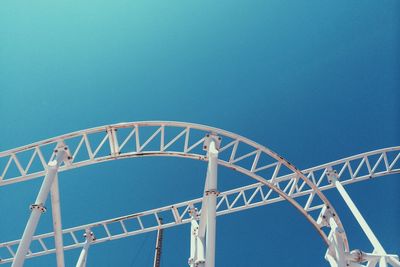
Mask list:
[[215,236],[217,216],[217,178],[218,150],[215,141],[211,140],[208,149],[208,173],[205,188],[207,197],[207,231],[206,231],[206,264],[205,267],[215,266]]

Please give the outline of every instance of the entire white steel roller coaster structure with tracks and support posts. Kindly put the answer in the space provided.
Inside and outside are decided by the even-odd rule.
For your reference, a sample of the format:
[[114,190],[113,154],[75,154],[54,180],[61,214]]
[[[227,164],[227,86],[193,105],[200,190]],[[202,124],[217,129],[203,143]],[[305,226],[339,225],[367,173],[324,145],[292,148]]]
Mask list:
[[[62,172],[111,160],[149,156],[207,162],[203,196],[62,229],[58,184]],[[28,160],[24,163],[22,157]],[[189,266],[214,267],[217,216],[288,201],[305,216],[326,244],[325,259],[330,266],[400,266],[398,256],[385,251],[344,187],[400,173],[400,147],[370,151],[299,170],[269,148],[222,129],[184,122],[145,121],[61,135],[0,152],[0,160],[5,162],[0,169],[0,186],[44,177],[37,198],[30,206],[31,214],[22,237],[0,244],[0,264],[20,267],[26,259],[55,253],[57,266],[63,267],[64,251],[81,248],[76,265],[81,267],[86,265],[90,246],[190,223]],[[254,183],[219,192],[219,167],[246,175],[254,179]],[[339,192],[371,242],[373,251],[349,247],[340,214],[324,194],[327,190]],[[54,231],[35,234],[40,217],[46,212],[48,195]],[[113,231],[110,231],[111,225]],[[33,243],[39,249],[32,251]]]

